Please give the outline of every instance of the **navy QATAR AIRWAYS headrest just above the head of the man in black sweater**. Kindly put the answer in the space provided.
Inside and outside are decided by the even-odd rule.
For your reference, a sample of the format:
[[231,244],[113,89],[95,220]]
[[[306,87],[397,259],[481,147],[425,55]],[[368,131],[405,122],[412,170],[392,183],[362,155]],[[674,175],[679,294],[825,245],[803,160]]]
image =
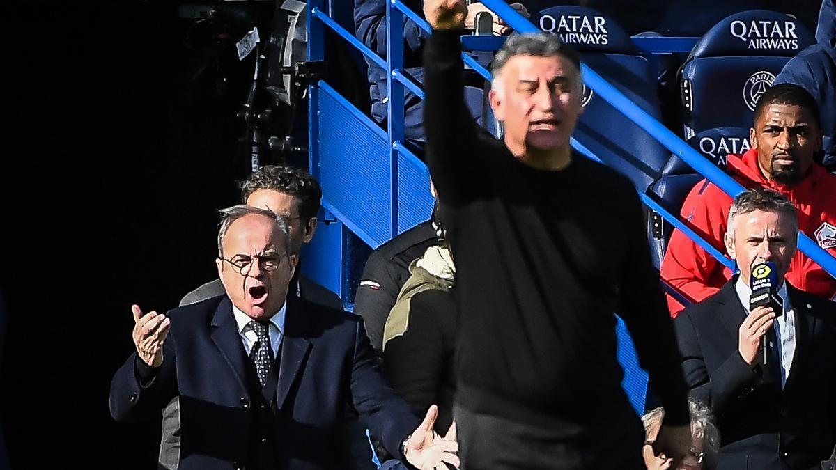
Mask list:
[[581,53],[639,54],[624,28],[592,8],[546,8],[540,12],[539,23],[540,29],[558,34]]

